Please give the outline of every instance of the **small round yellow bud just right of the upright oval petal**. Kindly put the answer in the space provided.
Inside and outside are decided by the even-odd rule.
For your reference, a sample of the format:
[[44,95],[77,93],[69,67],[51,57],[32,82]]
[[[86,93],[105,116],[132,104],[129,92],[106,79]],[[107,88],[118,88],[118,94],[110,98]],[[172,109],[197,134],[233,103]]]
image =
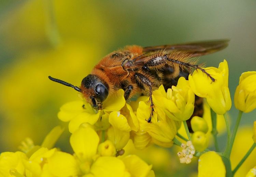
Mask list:
[[116,154],[116,148],[111,141],[106,140],[99,144],[98,152],[101,156],[114,156]]

